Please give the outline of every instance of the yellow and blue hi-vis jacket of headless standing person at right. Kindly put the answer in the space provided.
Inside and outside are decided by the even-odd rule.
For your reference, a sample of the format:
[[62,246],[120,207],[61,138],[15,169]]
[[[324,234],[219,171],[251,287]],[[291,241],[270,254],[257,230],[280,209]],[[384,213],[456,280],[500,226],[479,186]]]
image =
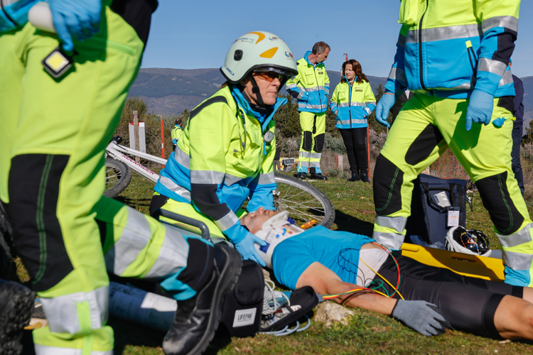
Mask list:
[[385,85],[465,99],[474,89],[515,94],[510,67],[520,0],[402,0],[394,65]]

